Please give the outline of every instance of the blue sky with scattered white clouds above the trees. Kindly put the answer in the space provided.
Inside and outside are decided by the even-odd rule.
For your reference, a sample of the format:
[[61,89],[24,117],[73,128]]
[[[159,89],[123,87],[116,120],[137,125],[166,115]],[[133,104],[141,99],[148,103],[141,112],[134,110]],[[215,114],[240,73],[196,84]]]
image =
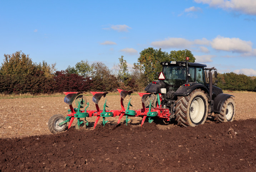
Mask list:
[[86,59],[111,69],[121,56],[132,67],[153,47],[256,76],[256,0],[1,0],[0,40],[0,63],[22,51],[58,71]]

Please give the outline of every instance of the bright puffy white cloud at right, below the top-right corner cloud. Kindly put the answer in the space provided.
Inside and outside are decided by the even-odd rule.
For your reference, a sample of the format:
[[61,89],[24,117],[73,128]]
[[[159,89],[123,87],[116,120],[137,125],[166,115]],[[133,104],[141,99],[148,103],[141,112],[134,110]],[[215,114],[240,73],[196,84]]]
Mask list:
[[251,52],[252,42],[243,41],[239,38],[225,38],[222,36],[217,36],[211,42],[212,48],[216,50],[232,51],[232,52]]

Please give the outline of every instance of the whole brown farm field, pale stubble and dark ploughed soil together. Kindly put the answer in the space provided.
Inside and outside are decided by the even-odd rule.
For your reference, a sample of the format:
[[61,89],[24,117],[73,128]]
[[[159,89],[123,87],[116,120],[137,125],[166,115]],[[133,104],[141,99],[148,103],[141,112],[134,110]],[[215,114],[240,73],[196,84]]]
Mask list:
[[[74,121],[59,134],[51,134],[47,123],[54,114],[66,116],[64,95],[1,99],[0,171],[256,171],[256,93],[228,94],[235,96],[233,122],[216,124],[210,116],[196,127],[181,128],[175,120],[141,127],[140,117],[129,117],[128,126],[110,117],[93,130],[93,117],[87,129],[75,130]],[[108,109],[121,109],[119,95],[106,97]],[[141,109],[141,97],[131,97],[132,109]],[[87,100],[87,110],[95,110],[92,96]]]

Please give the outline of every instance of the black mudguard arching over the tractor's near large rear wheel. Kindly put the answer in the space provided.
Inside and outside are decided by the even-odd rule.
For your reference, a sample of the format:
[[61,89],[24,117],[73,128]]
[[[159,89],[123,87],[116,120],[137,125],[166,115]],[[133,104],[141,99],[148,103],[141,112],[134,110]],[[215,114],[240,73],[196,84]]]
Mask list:
[[193,90],[195,90],[197,88],[201,88],[207,94],[209,94],[209,91],[208,91],[208,89],[207,89],[207,87],[205,85],[202,85],[200,83],[187,83],[187,84],[190,84],[190,86],[187,87],[187,86],[185,86],[185,84],[181,85],[181,87],[179,87],[177,89],[177,91],[174,93],[174,95],[186,96],[186,95],[190,94]]

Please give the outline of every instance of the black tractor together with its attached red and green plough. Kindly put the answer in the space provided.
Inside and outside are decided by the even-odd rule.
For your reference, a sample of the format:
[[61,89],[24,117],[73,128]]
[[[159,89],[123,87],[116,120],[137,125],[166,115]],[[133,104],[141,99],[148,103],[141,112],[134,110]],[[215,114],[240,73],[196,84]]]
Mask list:
[[[70,107],[67,117],[56,114],[48,122],[49,130],[53,133],[68,129],[75,118],[75,128],[88,126],[86,118],[96,117],[94,129],[102,117],[102,124],[108,122],[108,117],[118,116],[118,124],[125,116],[125,124],[129,122],[130,116],[142,117],[141,126],[148,119],[152,123],[154,118],[161,118],[169,121],[175,118],[177,124],[182,127],[197,126],[204,124],[207,116],[214,114],[216,123],[233,121],[235,118],[235,101],[233,95],[224,94],[222,90],[213,84],[212,71],[217,79],[217,69],[206,68],[205,64],[188,62],[161,62],[162,72],[159,73],[159,80],[153,81],[145,88],[146,93],[138,93],[142,97],[142,109],[132,110],[131,98],[125,109],[123,101],[133,91],[118,89],[120,93],[121,110],[106,110],[107,99],[103,110],[99,109],[98,103],[108,92],[91,92],[96,110],[87,110],[89,103],[83,92],[64,92],[64,102]],[[207,75],[208,74],[208,75]],[[75,101],[77,108],[73,108]],[[83,108],[85,108],[83,110]],[[84,118],[84,120],[82,120]]]

